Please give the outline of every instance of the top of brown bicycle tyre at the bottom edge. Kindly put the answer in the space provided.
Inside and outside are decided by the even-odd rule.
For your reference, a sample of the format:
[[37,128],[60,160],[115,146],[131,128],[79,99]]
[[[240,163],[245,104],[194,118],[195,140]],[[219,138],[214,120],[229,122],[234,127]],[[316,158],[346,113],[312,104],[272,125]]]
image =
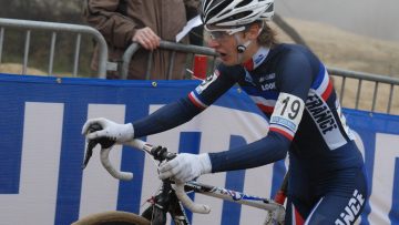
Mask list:
[[134,213],[110,211],[91,214],[71,225],[151,225],[151,223]]

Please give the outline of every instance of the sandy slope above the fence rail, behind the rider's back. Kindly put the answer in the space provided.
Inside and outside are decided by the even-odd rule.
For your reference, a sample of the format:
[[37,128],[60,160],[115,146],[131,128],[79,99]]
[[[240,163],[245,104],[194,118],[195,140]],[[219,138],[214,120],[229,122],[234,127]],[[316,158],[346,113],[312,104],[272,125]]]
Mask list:
[[[399,42],[376,40],[318,22],[285,20],[327,67],[399,78]],[[278,37],[283,42],[291,42],[280,30]]]

